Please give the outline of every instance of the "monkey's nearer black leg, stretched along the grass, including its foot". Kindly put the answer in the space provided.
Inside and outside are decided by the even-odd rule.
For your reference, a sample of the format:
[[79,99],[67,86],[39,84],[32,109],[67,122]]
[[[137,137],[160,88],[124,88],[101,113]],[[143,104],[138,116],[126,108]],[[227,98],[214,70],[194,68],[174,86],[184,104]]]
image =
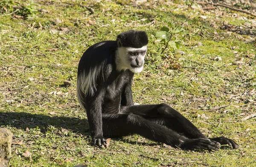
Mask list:
[[136,133],[147,139],[183,149],[218,150],[220,147],[218,142],[209,139],[187,139],[174,130],[132,113],[102,114],[102,122],[105,137],[122,137]]

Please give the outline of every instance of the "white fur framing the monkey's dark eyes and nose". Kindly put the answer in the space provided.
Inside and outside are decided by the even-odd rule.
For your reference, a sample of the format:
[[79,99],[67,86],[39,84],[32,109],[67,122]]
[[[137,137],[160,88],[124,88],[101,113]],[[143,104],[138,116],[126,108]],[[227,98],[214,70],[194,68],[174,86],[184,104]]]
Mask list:
[[[134,51],[145,51],[145,54],[138,54],[137,56],[131,56],[129,53]],[[143,70],[144,59],[147,51],[147,45],[141,48],[131,47],[119,47],[116,51],[116,70],[122,71],[129,69],[133,73],[140,73]],[[131,59],[140,59],[142,65],[140,67],[131,67]]]

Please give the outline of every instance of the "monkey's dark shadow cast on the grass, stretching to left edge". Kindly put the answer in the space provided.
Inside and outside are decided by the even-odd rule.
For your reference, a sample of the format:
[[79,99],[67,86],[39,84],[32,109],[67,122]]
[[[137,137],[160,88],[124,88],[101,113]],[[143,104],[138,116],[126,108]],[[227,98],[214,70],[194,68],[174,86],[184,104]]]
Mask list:
[[[27,128],[39,128],[41,133],[46,133],[49,130],[49,126],[57,128],[64,128],[72,130],[74,133],[79,133],[90,141],[90,132],[87,119],[79,119],[76,117],[65,117],[65,116],[47,116],[42,114],[31,114],[31,113],[15,113],[7,112],[0,113],[0,127],[10,126],[21,128],[26,131]],[[123,138],[113,138],[111,140],[122,141],[129,144],[138,144],[138,142],[130,141]],[[92,142],[90,145],[94,145]],[[157,143],[140,142],[141,145],[154,146]]]

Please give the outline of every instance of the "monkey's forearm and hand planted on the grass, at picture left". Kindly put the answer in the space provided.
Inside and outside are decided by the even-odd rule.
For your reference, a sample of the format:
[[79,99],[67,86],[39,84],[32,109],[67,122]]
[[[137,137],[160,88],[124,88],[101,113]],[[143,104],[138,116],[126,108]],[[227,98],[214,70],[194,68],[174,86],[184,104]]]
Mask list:
[[94,144],[98,146],[106,144],[102,131],[102,102],[104,94],[105,93],[103,90],[97,91],[96,95],[93,96],[90,102],[90,109],[87,112],[90,133],[92,135]]

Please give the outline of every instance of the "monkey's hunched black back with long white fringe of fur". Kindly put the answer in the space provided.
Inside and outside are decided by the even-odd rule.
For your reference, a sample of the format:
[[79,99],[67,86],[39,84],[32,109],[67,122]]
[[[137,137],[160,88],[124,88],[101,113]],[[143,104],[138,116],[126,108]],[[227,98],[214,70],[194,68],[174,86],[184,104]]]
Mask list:
[[104,79],[103,71],[112,63],[116,48],[116,41],[102,41],[90,46],[82,55],[77,73],[77,97],[85,109],[85,98],[95,95],[97,82]]

